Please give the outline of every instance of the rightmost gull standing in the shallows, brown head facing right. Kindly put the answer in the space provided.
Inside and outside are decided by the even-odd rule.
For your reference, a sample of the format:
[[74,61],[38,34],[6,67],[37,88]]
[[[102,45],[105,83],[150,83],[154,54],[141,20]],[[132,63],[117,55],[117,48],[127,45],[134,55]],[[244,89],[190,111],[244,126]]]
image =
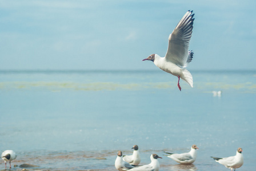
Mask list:
[[218,157],[212,157],[216,162],[219,164],[224,165],[226,168],[233,169],[240,168],[243,165],[243,154],[242,154],[242,148],[237,149],[237,154],[235,156],[231,157],[225,157],[225,158],[218,158]]

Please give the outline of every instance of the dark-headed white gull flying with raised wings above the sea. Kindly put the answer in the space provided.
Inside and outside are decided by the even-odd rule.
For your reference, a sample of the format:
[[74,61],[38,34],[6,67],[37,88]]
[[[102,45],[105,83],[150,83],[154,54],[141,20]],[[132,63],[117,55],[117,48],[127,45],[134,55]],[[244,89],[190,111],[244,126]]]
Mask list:
[[151,60],[161,70],[177,76],[180,91],[180,78],[193,87],[192,75],[185,68],[187,64],[191,62],[194,54],[194,52],[189,51],[189,41],[194,23],[194,14],[192,13],[193,11],[187,11],[173,32],[169,35],[169,45],[165,57],[162,58],[157,54],[152,54],[146,59],[143,59]]

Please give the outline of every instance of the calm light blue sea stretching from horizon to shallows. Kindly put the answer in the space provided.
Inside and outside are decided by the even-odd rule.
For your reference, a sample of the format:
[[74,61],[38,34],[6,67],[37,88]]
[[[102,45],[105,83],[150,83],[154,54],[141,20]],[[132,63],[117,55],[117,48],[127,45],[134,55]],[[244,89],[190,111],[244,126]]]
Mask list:
[[[180,92],[162,71],[0,71],[0,151],[13,149],[13,164],[37,170],[115,170],[117,151],[137,144],[141,164],[156,153],[160,170],[178,171],[229,170],[210,156],[241,147],[237,170],[254,170],[256,71],[191,74],[194,88],[181,80]],[[193,144],[194,165],[163,156]]]

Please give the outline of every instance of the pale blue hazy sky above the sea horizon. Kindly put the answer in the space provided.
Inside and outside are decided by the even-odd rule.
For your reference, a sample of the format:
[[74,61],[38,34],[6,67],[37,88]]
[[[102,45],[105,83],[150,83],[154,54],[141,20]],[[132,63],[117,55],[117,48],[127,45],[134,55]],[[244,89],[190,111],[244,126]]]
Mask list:
[[255,0],[1,1],[0,70],[159,70],[187,10],[189,70],[254,70]]

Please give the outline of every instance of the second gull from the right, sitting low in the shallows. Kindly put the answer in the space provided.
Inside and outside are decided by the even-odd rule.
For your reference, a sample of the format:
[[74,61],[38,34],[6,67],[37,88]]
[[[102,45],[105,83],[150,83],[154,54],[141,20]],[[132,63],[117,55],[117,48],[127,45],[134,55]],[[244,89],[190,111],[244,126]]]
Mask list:
[[167,157],[170,157],[174,161],[177,161],[180,164],[192,164],[195,159],[197,158],[197,145],[192,145],[191,150],[188,153],[181,153],[181,154],[175,154],[175,153],[167,153]]

